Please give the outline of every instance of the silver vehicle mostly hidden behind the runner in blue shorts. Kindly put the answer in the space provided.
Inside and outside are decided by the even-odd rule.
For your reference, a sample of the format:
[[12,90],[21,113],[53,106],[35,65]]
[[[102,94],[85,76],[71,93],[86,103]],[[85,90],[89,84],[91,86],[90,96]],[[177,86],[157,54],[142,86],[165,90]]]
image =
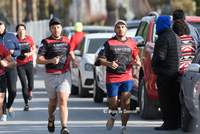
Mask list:
[[[136,34],[137,29],[129,29],[126,32],[126,37],[133,38]],[[114,33],[112,36],[115,36]],[[96,51],[94,62],[98,56],[101,47]],[[94,102],[101,103],[103,102],[103,98],[106,96],[106,66],[94,66],[94,86],[93,86],[93,99]]]

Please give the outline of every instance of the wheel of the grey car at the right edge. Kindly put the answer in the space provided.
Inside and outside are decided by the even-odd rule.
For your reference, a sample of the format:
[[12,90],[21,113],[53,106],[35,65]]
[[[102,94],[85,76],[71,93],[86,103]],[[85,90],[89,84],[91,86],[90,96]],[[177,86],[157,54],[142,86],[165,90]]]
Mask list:
[[197,121],[191,115],[186,107],[184,96],[181,98],[181,128],[183,132],[194,132]]

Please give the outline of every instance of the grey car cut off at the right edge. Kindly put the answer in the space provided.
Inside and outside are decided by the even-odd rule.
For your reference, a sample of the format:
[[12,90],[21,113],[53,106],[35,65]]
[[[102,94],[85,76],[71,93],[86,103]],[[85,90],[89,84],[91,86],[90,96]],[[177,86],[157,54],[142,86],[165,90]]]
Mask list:
[[182,74],[180,101],[182,131],[192,132],[200,117],[200,51]]

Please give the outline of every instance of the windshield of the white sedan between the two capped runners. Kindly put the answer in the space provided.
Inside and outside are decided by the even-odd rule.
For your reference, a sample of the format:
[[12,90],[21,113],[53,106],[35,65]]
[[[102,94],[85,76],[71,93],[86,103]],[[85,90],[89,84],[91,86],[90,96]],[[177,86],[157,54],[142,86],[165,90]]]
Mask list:
[[94,54],[109,38],[88,39],[86,53]]

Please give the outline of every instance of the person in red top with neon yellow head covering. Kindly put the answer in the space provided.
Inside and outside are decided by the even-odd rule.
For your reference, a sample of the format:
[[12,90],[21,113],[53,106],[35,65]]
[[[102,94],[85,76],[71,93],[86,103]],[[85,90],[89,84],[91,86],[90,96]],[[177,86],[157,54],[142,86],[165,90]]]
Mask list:
[[81,42],[82,38],[86,33],[83,32],[83,25],[81,22],[76,22],[74,25],[75,34],[72,35],[70,45],[72,46],[71,51],[74,51],[76,46]]

